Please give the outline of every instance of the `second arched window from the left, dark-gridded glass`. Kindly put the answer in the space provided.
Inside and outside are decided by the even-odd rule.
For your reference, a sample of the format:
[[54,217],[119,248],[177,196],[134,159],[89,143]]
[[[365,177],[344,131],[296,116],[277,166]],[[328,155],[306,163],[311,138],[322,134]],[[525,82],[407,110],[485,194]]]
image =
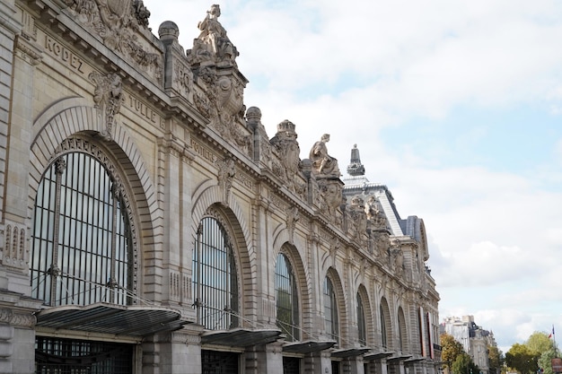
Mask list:
[[199,224],[192,279],[198,324],[209,330],[238,326],[233,247],[223,224],[215,217],[206,217]]

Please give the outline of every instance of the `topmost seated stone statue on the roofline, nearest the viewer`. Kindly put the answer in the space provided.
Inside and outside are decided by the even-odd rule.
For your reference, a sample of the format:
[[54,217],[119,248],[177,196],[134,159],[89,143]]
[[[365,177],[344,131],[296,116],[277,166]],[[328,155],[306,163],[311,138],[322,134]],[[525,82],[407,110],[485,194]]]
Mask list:
[[187,52],[189,64],[197,65],[208,61],[236,65],[234,60],[238,57],[238,51],[226,36],[221,22],[218,22],[220,15],[220,6],[213,4],[206,12],[205,19],[198,23],[201,33],[198,39],[193,40],[193,48]]

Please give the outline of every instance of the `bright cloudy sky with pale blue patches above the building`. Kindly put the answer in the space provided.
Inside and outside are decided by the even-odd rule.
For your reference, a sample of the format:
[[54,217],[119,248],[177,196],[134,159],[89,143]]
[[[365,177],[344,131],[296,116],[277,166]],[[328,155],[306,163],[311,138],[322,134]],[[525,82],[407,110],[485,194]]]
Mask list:
[[[188,49],[211,1],[145,0]],[[346,170],[428,231],[440,317],[474,315],[505,352],[562,332],[562,2],[228,0],[219,21],[273,136],[329,133]],[[562,341],[562,335],[560,335]]]

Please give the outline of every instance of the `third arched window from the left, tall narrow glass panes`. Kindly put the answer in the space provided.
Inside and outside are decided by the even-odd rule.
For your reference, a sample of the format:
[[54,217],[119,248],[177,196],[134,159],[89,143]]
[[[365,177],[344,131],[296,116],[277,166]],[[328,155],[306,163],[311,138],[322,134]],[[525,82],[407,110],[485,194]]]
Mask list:
[[299,300],[293,268],[289,259],[280,253],[275,266],[275,291],[277,301],[277,326],[287,336],[286,340],[299,340]]

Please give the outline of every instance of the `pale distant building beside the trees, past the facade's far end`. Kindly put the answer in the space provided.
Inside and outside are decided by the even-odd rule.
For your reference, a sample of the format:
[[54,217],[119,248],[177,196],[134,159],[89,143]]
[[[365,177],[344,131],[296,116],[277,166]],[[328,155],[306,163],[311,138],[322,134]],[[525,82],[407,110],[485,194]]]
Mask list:
[[496,346],[494,333],[474,322],[474,316],[446,317],[441,324],[441,333],[452,335],[462,344],[472,361],[483,374],[489,373],[488,346]]

